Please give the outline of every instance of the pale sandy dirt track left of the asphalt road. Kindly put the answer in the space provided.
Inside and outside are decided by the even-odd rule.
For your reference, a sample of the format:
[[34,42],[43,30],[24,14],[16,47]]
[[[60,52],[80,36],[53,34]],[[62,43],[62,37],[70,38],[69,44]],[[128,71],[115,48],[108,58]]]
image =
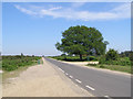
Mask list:
[[58,73],[43,59],[42,65],[29,67],[19,77],[11,78],[3,86],[3,97],[92,97],[88,91],[75,86],[62,73]]

